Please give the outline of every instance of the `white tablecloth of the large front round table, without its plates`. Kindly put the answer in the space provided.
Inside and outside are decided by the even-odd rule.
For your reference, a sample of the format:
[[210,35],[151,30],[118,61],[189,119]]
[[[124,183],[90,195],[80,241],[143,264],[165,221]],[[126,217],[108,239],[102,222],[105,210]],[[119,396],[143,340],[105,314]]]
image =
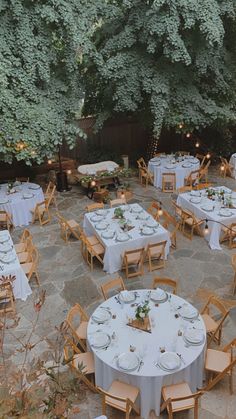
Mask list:
[[[140,303],[148,298],[148,290],[138,290],[137,302]],[[169,301],[160,303],[158,307],[150,301],[151,311],[149,318],[152,322],[152,333],[139,331],[127,326],[129,317],[135,317],[136,307],[131,304],[118,304],[116,297],[105,301],[101,306],[109,307],[116,318],[111,318],[107,324],[96,324],[92,318],[88,325],[88,342],[92,348],[95,358],[96,384],[108,390],[115,379],[135,385],[140,389],[141,417],[148,418],[149,412],[153,409],[156,415],[160,413],[161,388],[164,385],[176,384],[187,381],[192,389],[202,386],[204,349],[205,342],[198,346],[186,346],[183,336],[178,336],[178,331],[184,331],[187,327],[196,327],[203,330],[204,323],[199,317],[194,323],[176,318],[177,308],[183,306],[186,301],[178,296],[171,296]],[[188,303],[187,303],[188,304]],[[100,307],[101,307],[100,306]],[[154,321],[154,323],[153,323]],[[102,330],[110,336],[115,332],[115,339],[107,348],[94,349],[92,336],[96,330]],[[135,353],[142,357],[144,365],[139,371],[123,372],[117,366],[116,356],[129,352],[130,345],[134,346]],[[181,354],[180,368],[175,372],[165,372],[154,365],[160,357],[160,347],[166,351],[174,351]],[[143,356],[144,355],[144,356]]]

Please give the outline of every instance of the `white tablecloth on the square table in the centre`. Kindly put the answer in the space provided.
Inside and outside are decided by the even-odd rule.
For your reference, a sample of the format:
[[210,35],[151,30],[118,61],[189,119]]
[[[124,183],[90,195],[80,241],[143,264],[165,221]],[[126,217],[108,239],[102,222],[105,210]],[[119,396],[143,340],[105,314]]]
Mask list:
[[[140,227],[145,225],[144,220],[139,220],[137,217],[139,214],[133,213],[132,208],[138,206],[137,204],[126,205],[124,208],[125,217],[130,221],[130,224],[134,226],[132,230],[129,231],[130,239],[126,242],[117,242],[114,239],[104,239],[102,237],[102,231],[96,230],[96,223],[91,220],[91,217],[95,212],[90,212],[85,214],[84,217],[84,230],[87,235],[96,234],[99,240],[105,246],[105,255],[104,255],[104,271],[108,273],[117,272],[121,269],[123,254],[125,250],[139,249],[141,247],[146,247],[148,243],[157,243],[161,241],[167,241],[165,247],[165,257],[167,258],[170,248],[170,234],[163,228],[161,225],[156,229],[155,233],[151,236],[144,236],[141,234]],[[141,208],[141,207],[140,207]],[[142,214],[147,214],[145,210],[142,211]],[[107,211],[105,222],[109,225],[109,228],[114,228],[116,232],[120,230],[120,226],[117,219],[114,219],[114,208],[111,208]],[[151,217],[151,216],[150,216]]]

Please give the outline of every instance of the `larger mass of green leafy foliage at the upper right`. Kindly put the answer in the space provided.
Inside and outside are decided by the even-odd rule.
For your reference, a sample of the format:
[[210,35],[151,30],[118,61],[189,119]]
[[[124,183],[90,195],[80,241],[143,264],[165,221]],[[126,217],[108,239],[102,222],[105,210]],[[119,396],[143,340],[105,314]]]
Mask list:
[[156,136],[180,122],[235,122],[235,0],[96,4],[100,24],[81,66],[84,114],[97,115],[97,128],[120,113],[139,113]]

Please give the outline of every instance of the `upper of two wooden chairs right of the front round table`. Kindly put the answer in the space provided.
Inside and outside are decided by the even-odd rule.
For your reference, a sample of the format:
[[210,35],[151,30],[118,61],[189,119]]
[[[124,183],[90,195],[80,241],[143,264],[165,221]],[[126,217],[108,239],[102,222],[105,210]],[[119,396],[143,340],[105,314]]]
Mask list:
[[201,311],[208,335],[208,345],[212,341],[220,345],[223,324],[228,315],[229,310],[224,306],[224,303],[212,295]]

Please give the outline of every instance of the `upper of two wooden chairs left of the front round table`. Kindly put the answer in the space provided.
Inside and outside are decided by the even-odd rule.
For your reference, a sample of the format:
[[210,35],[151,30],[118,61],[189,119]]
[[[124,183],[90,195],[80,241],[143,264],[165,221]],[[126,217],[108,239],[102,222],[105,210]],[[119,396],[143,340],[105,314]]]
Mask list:
[[66,322],[70,328],[71,336],[76,340],[76,346],[79,345],[86,351],[88,316],[83,308],[77,303],[66,316]]

